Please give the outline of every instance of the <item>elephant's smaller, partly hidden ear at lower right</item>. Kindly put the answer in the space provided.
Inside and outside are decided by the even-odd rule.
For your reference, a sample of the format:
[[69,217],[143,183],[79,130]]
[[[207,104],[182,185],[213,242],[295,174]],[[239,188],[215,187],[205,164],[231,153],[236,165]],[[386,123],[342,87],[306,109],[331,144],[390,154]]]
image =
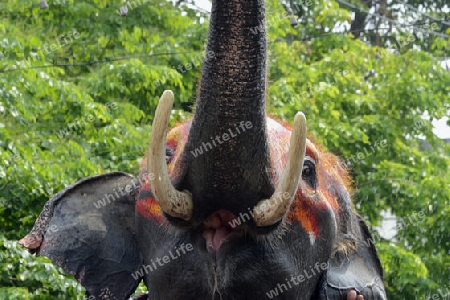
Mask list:
[[320,300],[346,300],[355,290],[364,300],[386,300],[383,268],[374,240],[364,220],[353,213],[356,226],[356,249],[351,253],[335,253],[328,261],[328,270],[320,289]]

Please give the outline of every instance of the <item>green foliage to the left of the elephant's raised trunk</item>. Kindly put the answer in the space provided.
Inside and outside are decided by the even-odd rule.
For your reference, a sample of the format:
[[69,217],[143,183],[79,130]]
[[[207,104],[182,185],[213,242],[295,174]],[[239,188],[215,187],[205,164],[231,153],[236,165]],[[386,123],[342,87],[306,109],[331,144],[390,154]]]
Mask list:
[[[200,74],[203,44],[176,39],[205,35],[193,11],[183,17],[168,2],[147,1],[123,18],[119,1],[54,2],[48,10],[39,1],[0,3],[1,299],[82,298],[72,276],[12,241],[75,181],[136,174],[159,95],[170,86],[174,121],[184,120]],[[140,59],[99,63],[133,54]],[[189,72],[177,69],[192,61]],[[88,64],[43,67],[76,62]]]

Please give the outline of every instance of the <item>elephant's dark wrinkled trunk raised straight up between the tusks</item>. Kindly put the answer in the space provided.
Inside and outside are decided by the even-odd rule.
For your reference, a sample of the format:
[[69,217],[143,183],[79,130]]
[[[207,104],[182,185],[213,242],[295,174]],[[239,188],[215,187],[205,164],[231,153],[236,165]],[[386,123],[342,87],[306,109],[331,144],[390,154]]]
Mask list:
[[213,1],[197,110],[185,148],[187,173],[179,186],[193,194],[194,218],[222,208],[239,213],[273,193],[264,14],[263,0]]

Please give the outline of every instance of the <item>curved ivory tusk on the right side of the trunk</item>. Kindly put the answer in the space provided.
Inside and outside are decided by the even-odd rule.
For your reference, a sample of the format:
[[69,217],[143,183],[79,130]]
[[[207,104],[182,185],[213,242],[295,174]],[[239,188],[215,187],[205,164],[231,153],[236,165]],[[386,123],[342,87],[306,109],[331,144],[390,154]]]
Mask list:
[[289,156],[281,181],[272,197],[259,201],[253,209],[253,219],[257,226],[275,224],[286,215],[298,189],[305,151],[306,118],[303,113],[298,112],[294,118]]

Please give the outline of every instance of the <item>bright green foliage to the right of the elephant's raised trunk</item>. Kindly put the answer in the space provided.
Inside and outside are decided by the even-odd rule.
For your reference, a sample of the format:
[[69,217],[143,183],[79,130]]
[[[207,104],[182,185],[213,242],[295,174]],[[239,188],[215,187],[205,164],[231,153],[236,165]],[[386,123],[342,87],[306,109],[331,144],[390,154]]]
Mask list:
[[[275,16],[284,9],[271,4],[277,22],[268,28],[277,42],[271,44],[269,112],[287,120],[305,112],[309,132],[351,168],[355,206],[370,224],[380,224],[381,211],[410,220],[395,240],[377,245],[388,298],[435,294],[450,278],[450,147],[434,135],[431,121],[450,110],[450,72],[437,59],[449,53],[450,41],[434,40],[441,52],[399,54],[350,35],[320,36],[317,28],[349,17],[339,9],[330,13],[333,5],[322,7],[315,29],[283,30],[288,18]],[[314,2],[313,10],[318,5],[324,4]],[[316,38],[305,42],[304,36]],[[432,149],[423,150],[420,139]],[[419,212],[423,217],[414,218]]]

